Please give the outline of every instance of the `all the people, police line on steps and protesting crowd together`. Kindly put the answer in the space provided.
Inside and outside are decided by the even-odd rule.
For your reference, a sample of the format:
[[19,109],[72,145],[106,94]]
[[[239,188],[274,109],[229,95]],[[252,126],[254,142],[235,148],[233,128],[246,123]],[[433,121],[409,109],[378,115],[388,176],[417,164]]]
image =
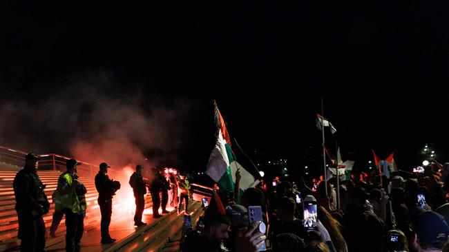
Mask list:
[[[37,175],[39,156],[26,155],[26,165],[13,182],[19,220],[21,251],[44,251],[45,224],[42,216],[50,203],[45,185]],[[59,176],[50,235],[54,236],[66,216],[66,251],[79,251],[86,215],[86,187],[79,182],[75,159],[67,160]],[[109,166],[102,162],[95,176],[102,213],[103,244],[115,242],[109,235],[112,200],[120,182],[108,177]],[[135,196],[134,224],[144,226],[142,213],[147,188],[153,199],[153,218],[160,218],[170,205],[189,215],[190,183],[175,169],[151,169],[151,183],[142,177],[142,165],[135,167],[129,184]],[[260,182],[239,194],[214,185],[213,198],[196,229],[189,230],[180,249],[189,251],[449,251],[449,164],[433,162],[422,173],[395,172],[382,176],[372,172],[342,180],[316,181],[307,187],[276,180]],[[236,185],[241,178],[235,174]],[[171,195],[169,196],[169,190]],[[338,193],[336,193],[336,191]],[[336,195],[340,200],[336,200]],[[179,197],[178,197],[179,195]],[[161,197],[162,196],[162,197]],[[260,209],[260,213],[254,212]],[[250,211],[249,211],[250,210]],[[257,218],[256,218],[257,217]],[[262,249],[262,247],[264,249]]]

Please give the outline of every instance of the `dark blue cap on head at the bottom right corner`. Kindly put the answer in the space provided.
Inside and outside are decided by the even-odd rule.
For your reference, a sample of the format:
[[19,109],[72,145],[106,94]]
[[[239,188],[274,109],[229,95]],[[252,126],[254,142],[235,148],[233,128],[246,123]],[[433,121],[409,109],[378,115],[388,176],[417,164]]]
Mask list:
[[448,240],[448,223],[439,213],[432,211],[419,213],[413,224],[419,240],[426,244],[432,245],[434,242],[446,242]]

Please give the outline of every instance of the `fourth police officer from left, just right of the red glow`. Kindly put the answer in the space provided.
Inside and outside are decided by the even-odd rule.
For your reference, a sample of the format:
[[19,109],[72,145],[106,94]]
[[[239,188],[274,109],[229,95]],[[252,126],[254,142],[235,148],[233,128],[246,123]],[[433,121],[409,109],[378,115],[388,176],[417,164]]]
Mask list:
[[129,178],[129,185],[133,187],[135,198],[134,225],[137,227],[144,226],[146,223],[142,222],[142,213],[144,213],[145,207],[146,185],[144,178],[142,178],[142,165],[135,166],[135,172]]

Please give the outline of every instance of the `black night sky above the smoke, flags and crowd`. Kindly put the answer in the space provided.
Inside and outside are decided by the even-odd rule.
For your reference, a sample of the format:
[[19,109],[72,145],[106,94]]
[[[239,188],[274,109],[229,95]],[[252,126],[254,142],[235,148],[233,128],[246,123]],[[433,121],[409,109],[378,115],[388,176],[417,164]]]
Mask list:
[[99,73],[113,98],[182,99],[190,105],[178,162],[191,169],[209,156],[213,98],[258,158],[300,160],[319,145],[321,97],[343,152],[396,150],[410,167],[434,143],[440,161],[449,158],[447,1],[1,5],[3,101],[39,105]]

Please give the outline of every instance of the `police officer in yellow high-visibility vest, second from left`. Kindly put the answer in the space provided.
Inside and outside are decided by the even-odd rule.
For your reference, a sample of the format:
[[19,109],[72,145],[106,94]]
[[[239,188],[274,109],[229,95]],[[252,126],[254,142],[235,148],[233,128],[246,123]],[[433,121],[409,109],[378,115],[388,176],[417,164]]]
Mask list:
[[75,189],[79,184],[75,180],[77,165],[81,165],[77,160],[67,160],[67,171],[59,176],[55,193],[55,211],[61,211],[66,216],[66,251],[75,251],[75,235],[81,212]]

